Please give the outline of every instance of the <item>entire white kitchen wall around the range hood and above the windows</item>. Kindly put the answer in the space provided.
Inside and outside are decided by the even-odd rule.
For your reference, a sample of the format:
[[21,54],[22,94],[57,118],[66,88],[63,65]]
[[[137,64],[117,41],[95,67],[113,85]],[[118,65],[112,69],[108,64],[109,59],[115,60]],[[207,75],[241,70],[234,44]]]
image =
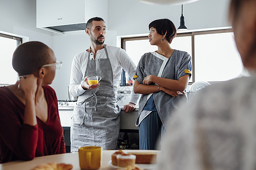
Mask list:
[[[189,29],[229,26],[227,8],[229,0],[200,0],[183,6],[185,25]],[[106,44],[117,45],[117,36],[148,32],[148,24],[155,19],[169,18],[179,27],[180,6],[148,5],[138,0],[108,0]],[[36,28],[35,0],[0,0],[0,31],[42,41],[50,46],[63,67],[56,71],[52,87],[58,99],[68,99],[68,86],[73,57],[88,48],[85,33],[59,35]],[[1,47],[0,47],[1,48]],[[1,57],[1,56],[0,56]]]

